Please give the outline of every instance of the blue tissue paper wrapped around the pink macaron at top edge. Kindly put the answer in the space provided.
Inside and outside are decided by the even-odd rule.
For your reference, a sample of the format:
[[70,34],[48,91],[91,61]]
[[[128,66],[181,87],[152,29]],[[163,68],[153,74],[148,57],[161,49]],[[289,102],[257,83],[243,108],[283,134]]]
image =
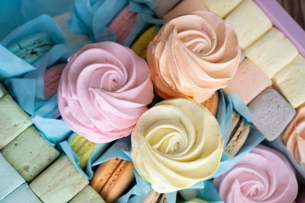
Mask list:
[[[130,47],[142,32],[153,24],[164,24],[164,20],[154,16],[150,6],[152,1],[128,0],[76,0],[71,19],[67,20],[67,27],[77,34],[88,35],[93,42],[116,41],[116,33],[108,28],[114,17],[125,7],[138,13],[131,33],[122,43]],[[148,6],[149,5],[149,6]]]

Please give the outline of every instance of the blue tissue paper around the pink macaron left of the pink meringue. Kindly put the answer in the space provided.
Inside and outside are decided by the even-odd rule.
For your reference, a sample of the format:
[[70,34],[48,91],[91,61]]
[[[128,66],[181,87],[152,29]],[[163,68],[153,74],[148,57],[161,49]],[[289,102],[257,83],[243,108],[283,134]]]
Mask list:
[[48,66],[57,62],[67,62],[81,47],[79,44],[55,45],[35,62],[39,64],[36,70],[27,73],[23,78],[5,81],[21,108],[32,115],[34,125],[52,146],[64,141],[71,133],[71,129],[63,120],[55,119],[58,116],[57,94],[50,99],[44,97],[43,75]]

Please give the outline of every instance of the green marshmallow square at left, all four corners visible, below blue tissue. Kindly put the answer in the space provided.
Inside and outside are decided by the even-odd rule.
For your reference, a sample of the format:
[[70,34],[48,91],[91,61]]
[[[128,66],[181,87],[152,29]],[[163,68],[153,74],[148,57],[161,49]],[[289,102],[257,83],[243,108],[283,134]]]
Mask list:
[[59,156],[59,152],[40,136],[34,126],[24,130],[2,150],[2,154],[27,182],[36,178]]

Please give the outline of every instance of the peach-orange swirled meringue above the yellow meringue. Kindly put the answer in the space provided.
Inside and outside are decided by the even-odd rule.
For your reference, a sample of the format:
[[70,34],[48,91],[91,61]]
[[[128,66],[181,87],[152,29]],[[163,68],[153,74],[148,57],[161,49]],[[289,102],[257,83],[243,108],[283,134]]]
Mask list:
[[166,22],[146,58],[160,96],[201,103],[233,78],[240,49],[231,25],[215,13],[195,11]]

